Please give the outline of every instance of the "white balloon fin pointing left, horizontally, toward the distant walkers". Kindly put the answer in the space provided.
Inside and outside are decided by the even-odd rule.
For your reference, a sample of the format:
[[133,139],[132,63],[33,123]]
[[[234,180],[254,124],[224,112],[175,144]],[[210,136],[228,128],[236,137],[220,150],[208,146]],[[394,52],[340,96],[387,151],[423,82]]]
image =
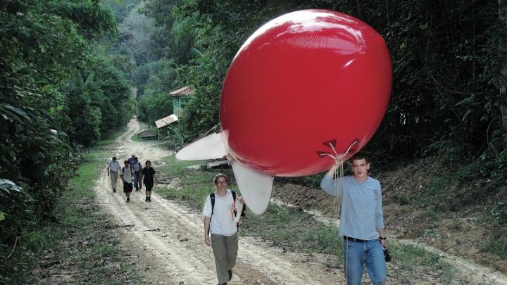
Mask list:
[[179,160],[206,160],[223,158],[227,155],[220,132],[194,141],[176,153]]

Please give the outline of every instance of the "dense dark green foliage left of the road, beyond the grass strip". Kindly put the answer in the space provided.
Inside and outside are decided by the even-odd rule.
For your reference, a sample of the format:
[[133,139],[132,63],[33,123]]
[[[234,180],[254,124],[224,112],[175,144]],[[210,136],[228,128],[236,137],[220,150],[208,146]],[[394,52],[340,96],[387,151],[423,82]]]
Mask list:
[[[120,61],[104,62],[89,48],[114,31],[99,1],[0,2],[0,278],[15,266],[4,249],[54,217],[75,152],[132,115]],[[115,110],[113,125],[104,125]]]

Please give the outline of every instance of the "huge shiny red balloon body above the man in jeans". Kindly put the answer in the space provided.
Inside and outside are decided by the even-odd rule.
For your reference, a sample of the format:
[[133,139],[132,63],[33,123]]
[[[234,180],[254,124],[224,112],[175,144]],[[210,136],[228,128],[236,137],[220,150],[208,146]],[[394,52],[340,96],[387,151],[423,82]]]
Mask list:
[[234,57],[220,98],[220,123],[239,162],[273,176],[331,167],[320,153],[349,156],[373,137],[392,86],[384,40],[361,20],[296,11],[263,25]]

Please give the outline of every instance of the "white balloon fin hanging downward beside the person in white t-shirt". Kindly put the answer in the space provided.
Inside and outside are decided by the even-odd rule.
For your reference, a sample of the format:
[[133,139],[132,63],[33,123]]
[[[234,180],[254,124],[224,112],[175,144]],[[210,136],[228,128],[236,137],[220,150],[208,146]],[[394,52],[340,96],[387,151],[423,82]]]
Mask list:
[[246,205],[254,214],[262,215],[271,200],[273,176],[256,172],[237,161],[232,161],[231,165]]

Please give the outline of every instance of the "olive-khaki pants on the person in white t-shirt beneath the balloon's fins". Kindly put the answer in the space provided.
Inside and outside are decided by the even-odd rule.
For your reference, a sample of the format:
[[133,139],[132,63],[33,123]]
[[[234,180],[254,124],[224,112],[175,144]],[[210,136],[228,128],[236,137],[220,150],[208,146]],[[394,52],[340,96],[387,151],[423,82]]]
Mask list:
[[211,234],[211,247],[213,248],[213,255],[215,255],[218,284],[229,281],[227,271],[232,270],[232,267],[236,264],[237,244],[237,233],[232,236]]

